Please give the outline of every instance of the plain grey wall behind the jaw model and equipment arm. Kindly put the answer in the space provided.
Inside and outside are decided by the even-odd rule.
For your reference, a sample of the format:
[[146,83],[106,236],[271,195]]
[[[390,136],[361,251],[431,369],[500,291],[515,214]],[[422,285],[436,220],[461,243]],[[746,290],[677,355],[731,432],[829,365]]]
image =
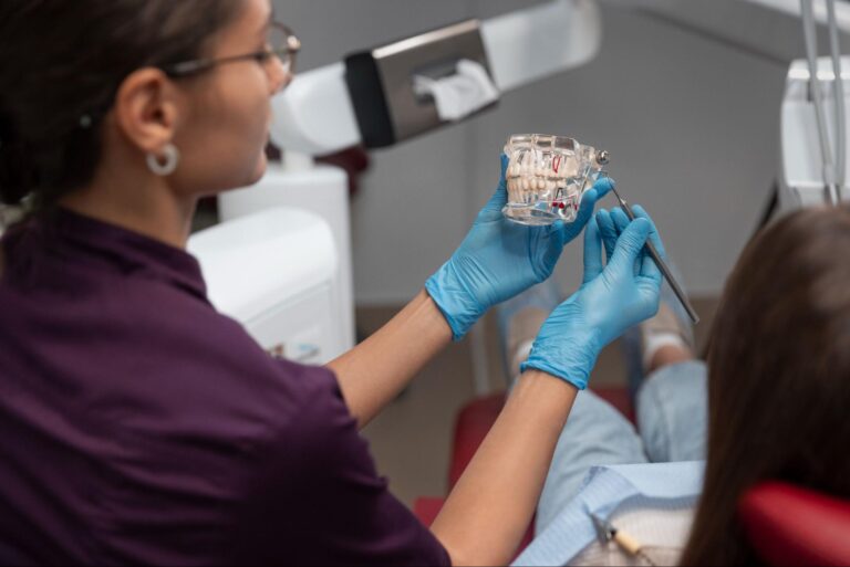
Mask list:
[[[618,187],[653,214],[691,291],[721,291],[778,170],[781,60],[801,45],[794,35],[798,28],[785,19],[782,33],[776,31],[779,24],[765,32],[765,12],[742,12],[736,0],[683,1],[662,18],[625,3],[603,6],[602,51],[584,67],[509,93],[496,111],[464,125],[373,153],[373,168],[352,204],[360,304],[403,302],[421,288],[493,191],[505,138],[532,130],[609,149]],[[276,4],[304,42],[301,67],[311,69],[354,50],[528,2]],[[699,8],[688,11],[686,4],[718,7],[743,29],[738,17],[755,18],[768,43],[780,48],[767,45],[773,55],[757,56],[687,31],[671,18],[681,22],[692,15],[692,27],[711,20],[715,32],[729,27],[699,18]],[[579,281],[580,250],[578,242],[570,246],[559,266],[564,291]]]

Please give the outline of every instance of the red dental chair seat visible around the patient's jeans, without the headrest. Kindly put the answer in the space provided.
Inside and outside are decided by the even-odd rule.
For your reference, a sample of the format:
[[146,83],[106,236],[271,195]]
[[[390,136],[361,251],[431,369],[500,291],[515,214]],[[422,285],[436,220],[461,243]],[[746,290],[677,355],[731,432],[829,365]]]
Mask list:
[[[593,391],[634,422],[634,410],[625,388],[594,388]],[[460,479],[469,461],[473,460],[473,455],[478,450],[478,445],[481,444],[481,441],[484,441],[484,438],[487,437],[490,428],[496,422],[496,418],[499,416],[502,406],[505,406],[505,392],[478,398],[464,406],[457,414],[455,420],[455,438],[452,443],[452,460],[448,469],[449,490]],[[444,498],[417,498],[413,511],[423,524],[429,526],[437,517],[437,514],[439,514],[444,502]],[[533,527],[532,522],[519,545],[519,550],[525,549],[531,542],[535,534]]]

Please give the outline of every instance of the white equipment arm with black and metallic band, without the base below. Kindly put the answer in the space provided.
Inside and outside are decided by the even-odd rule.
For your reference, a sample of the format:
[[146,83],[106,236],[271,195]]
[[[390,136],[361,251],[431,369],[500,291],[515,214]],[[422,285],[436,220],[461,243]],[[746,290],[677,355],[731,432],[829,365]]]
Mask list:
[[391,146],[587,63],[600,42],[599,9],[589,0],[433,30],[299,75],[273,102],[271,136],[310,155]]

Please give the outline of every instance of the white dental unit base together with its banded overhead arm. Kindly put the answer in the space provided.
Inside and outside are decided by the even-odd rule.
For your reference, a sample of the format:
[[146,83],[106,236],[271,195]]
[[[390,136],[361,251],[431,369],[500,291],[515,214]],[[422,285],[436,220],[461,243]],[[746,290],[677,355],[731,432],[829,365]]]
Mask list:
[[600,43],[594,1],[550,0],[297,75],[272,99],[271,138],[282,164],[271,164],[256,186],[219,196],[225,222],[189,243],[210,300],[272,353],[324,363],[348,350],[348,179],[313,156],[385,148],[476,116],[509,91],[590,61]]

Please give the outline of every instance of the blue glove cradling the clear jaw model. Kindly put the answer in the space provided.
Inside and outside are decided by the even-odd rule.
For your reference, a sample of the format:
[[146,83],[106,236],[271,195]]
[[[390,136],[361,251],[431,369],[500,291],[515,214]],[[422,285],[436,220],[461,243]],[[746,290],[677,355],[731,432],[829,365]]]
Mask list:
[[508,157],[502,154],[496,193],[478,213],[460,248],[425,282],[455,340],[460,340],[488,308],[549,277],[564,244],[581,232],[593,216],[597,200],[611,190],[611,180],[602,178],[584,192],[573,222],[526,227],[501,213],[508,200],[507,166]]

